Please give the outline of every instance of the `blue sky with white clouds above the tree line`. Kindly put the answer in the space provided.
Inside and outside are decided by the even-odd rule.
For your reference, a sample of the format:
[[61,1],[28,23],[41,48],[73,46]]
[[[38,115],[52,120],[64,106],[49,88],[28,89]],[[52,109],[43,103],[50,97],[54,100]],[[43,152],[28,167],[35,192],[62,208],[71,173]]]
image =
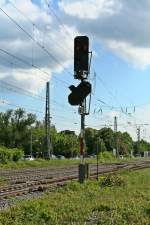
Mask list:
[[70,106],[74,38],[89,37],[93,53],[86,127],[127,131],[150,141],[149,0],[0,0],[0,107],[22,107],[42,120],[50,81],[51,122],[80,131]]

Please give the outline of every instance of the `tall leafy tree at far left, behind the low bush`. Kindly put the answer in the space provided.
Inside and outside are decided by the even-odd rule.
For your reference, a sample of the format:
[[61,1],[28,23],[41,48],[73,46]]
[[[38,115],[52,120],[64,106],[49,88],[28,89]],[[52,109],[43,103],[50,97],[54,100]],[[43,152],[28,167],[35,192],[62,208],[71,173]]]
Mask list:
[[0,144],[6,147],[24,148],[28,139],[28,127],[36,116],[24,109],[7,110],[0,113]]

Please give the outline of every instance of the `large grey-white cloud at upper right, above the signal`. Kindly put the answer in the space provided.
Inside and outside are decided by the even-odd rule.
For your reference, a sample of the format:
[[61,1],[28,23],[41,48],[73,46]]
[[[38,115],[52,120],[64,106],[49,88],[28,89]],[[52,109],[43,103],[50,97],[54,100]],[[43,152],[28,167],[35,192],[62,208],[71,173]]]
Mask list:
[[66,23],[139,68],[150,66],[149,0],[61,0]]

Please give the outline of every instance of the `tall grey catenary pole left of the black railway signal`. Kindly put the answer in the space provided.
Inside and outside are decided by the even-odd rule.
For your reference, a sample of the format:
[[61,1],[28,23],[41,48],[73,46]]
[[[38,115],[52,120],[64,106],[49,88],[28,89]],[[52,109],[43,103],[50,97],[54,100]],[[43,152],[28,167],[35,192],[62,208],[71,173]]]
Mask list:
[[50,89],[49,89],[49,82],[46,83],[44,158],[48,158],[48,159],[51,158],[51,143],[50,143]]

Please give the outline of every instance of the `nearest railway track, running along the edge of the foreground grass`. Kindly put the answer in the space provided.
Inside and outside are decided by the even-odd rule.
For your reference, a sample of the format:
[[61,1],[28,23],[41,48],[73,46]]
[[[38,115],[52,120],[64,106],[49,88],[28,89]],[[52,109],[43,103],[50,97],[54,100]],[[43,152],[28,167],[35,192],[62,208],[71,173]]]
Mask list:
[[[95,166],[95,165],[94,165]],[[93,165],[91,166],[91,173],[90,178],[95,178],[97,175],[96,167]],[[150,167],[150,161],[143,161],[143,162],[130,162],[124,164],[115,164],[115,165],[105,165],[105,167],[99,168],[99,175],[108,174],[108,173],[116,173],[121,170],[128,169],[129,171],[140,170],[144,168]],[[68,172],[68,171],[67,171]],[[55,174],[56,175],[56,174]],[[45,190],[52,190],[58,186],[65,185],[67,182],[71,180],[78,180],[78,169],[74,171],[70,171],[67,174],[59,174],[58,177],[52,177],[50,179],[43,178],[42,180],[37,181],[26,181],[23,184],[10,184],[4,187],[0,187],[0,199],[5,199],[8,197],[15,197],[20,195],[27,195],[32,192],[37,191],[45,191]]]

